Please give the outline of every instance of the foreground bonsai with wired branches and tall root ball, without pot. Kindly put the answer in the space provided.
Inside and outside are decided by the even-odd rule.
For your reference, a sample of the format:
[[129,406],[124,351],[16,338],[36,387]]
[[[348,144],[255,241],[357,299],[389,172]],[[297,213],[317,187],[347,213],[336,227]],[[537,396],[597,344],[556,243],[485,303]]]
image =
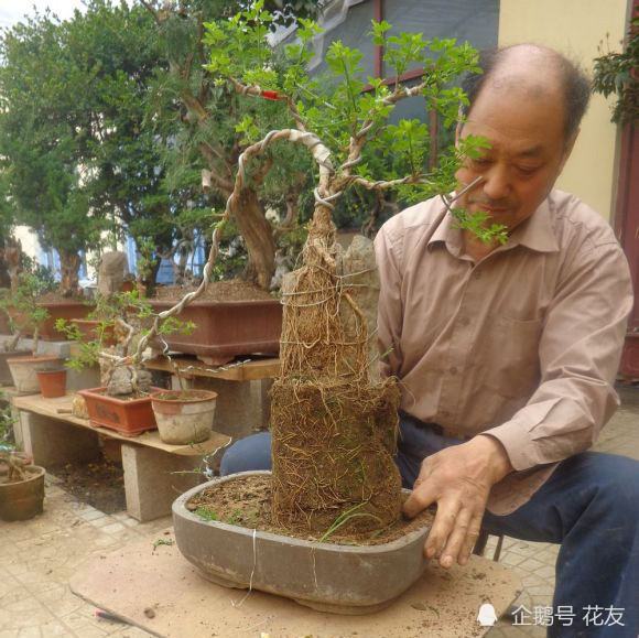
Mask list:
[[[273,67],[280,53],[267,42],[271,20],[263,2],[257,1],[230,20],[207,24],[208,71],[217,86],[277,100],[290,113],[292,126],[271,130],[239,156],[232,193],[213,233],[203,282],[155,317],[132,359],[142,360],[148,340],[162,322],[206,289],[219,239],[241,202],[242,188],[253,172],[264,170],[261,156],[284,143],[305,149],[317,165],[318,179],[303,266],[283,292],[282,375],[271,393],[273,519],[305,533],[321,534],[335,529],[337,521],[349,531],[379,530],[399,518],[401,507],[400,476],[392,461],[399,391],[394,379],[379,379],[371,372],[373,291],[378,285],[371,247],[365,244],[350,258],[343,258],[332,212],[335,202],[355,185],[371,191],[410,186],[421,197],[442,194],[461,227],[487,240],[505,240],[501,227],[488,226],[486,216],[468,216],[453,208],[454,198],[446,195],[456,186],[459,162],[477,152],[480,140],[467,139],[459,148],[448,149],[438,166],[426,170],[425,125],[400,121],[390,129],[391,134],[385,134],[394,105],[411,96],[423,96],[453,125],[466,97],[452,83],[461,73],[478,72],[476,52],[452,40],[424,41],[419,33],[386,37],[390,25],[373,22],[373,39],[378,44],[386,41],[386,60],[397,76],[420,65],[424,79],[412,87],[389,87],[381,79],[369,78],[372,90],[362,93],[361,54],[334,42],[326,62],[338,84],[323,94],[320,80],[305,73],[308,44],[317,26],[301,21],[300,43],[283,52],[291,64],[279,75]],[[436,57],[429,57],[429,50]],[[250,125],[246,122],[247,130]],[[396,180],[376,180],[372,164],[364,155],[366,148],[372,153],[404,154],[412,170]]]

